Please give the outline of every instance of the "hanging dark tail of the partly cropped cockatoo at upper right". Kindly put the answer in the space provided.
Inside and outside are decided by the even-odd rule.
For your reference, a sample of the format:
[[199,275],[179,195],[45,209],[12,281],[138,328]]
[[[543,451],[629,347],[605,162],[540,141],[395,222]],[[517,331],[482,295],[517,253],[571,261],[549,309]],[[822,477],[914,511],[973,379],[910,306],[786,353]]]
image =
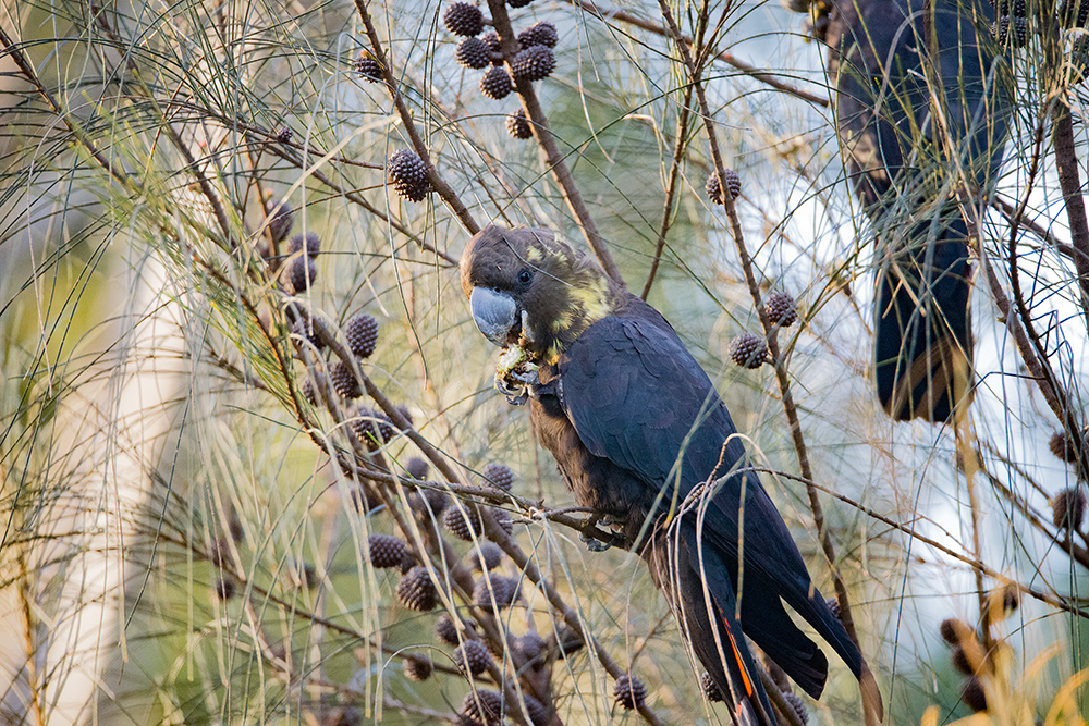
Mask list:
[[945,421],[971,401],[970,268],[964,220],[890,245],[878,272],[878,395],[891,417]]

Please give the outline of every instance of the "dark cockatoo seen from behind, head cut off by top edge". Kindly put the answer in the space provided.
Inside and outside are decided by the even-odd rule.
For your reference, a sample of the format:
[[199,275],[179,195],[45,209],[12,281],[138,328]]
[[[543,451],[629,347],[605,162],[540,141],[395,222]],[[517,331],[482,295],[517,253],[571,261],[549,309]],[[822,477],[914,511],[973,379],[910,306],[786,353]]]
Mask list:
[[825,37],[836,131],[878,238],[878,395],[897,420],[940,422],[971,399],[964,206],[986,207],[1008,102],[990,3],[929,5],[932,25],[927,0],[833,0]]

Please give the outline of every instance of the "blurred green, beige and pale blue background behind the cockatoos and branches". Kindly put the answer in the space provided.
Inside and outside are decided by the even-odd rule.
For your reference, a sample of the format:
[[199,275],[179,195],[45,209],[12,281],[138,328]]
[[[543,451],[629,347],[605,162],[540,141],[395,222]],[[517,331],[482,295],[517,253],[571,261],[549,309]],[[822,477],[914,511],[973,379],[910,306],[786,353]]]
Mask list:
[[[452,610],[488,629],[456,587],[468,573],[457,558],[482,539],[428,529],[428,490],[417,492],[406,475],[416,457],[431,457],[417,478],[432,489],[451,479],[437,468],[441,459],[463,485],[450,490],[456,499],[509,513],[516,547],[540,573],[540,581],[527,575],[510,551],[498,566],[517,578],[521,601],[488,623],[507,633],[492,639],[492,678],[505,673],[507,687],[525,688],[515,676],[529,666],[514,639],[537,632],[554,645],[570,635],[544,582],[613,664],[592,648],[567,657],[553,649],[537,696],[555,718],[729,722],[705,700],[637,557],[588,553],[553,516],[571,495],[534,443],[527,410],[494,392],[495,352],[461,291],[466,217],[440,195],[406,201],[388,182],[387,159],[418,134],[477,223],[547,226],[583,244],[568,192],[538,144],[505,131],[517,95],[484,97],[479,72],[455,62],[457,38],[443,27],[449,4],[4,2],[5,722],[457,722],[469,686],[452,660],[456,648],[435,626]],[[374,50],[360,8],[407,118],[384,81],[357,71],[360,53]],[[695,8],[673,5],[685,33],[699,22]],[[1019,705],[992,716],[1044,719],[1068,698],[1048,723],[1084,723],[1076,713],[1085,699],[1070,679],[1089,644],[1086,561],[1070,552],[1085,547],[1053,526],[1051,510],[1053,497],[1079,484],[1077,466],[1049,451],[1060,424],[982,285],[974,295],[981,385],[971,424],[988,476],[975,478],[975,518],[953,433],[884,416],[868,382],[871,235],[831,131],[824,50],[803,16],[778,2],[709,8],[722,19],[708,52],[722,60],[707,65],[705,81],[724,161],[742,179],[737,208],[761,286],[788,292],[802,311],[804,324],[784,329],[780,342],[813,476],[834,494],[821,495],[834,566],[890,723],[971,713],[939,624],[980,622],[972,563],[986,566],[987,590],[1010,582],[1019,593],[1020,607],[993,628],[1010,657],[988,692]],[[635,292],[670,214],[648,299],[715,381],[757,466],[797,475],[771,367],[730,362],[730,340],[759,331],[759,321],[726,216],[703,192],[713,163],[698,114],[678,132],[680,110],[694,100],[685,100],[676,47],[646,27],[663,25],[654,3],[601,10],[578,0],[511,10],[516,29],[549,21],[559,32],[556,70],[536,88],[560,152]],[[1042,61],[1031,50],[1006,61],[1019,103],[999,195],[1016,199],[1040,161],[1029,213],[1068,239],[1054,164],[1032,158],[1049,89],[1032,83]],[[1075,87],[1069,102],[1084,158],[1081,96]],[[665,212],[678,133],[687,145]],[[256,251],[268,244],[270,197],[294,209],[293,234],[320,238],[313,282],[298,294],[277,269],[294,261],[266,262]],[[1008,224],[998,213],[986,222],[984,247],[1001,261]],[[1084,402],[1086,325],[1073,270],[1047,241],[1027,235],[1024,247],[1031,313],[1068,395]],[[342,402],[342,416],[306,403],[302,385],[321,380],[322,358],[291,332],[293,321],[313,315],[339,336],[357,312],[379,323],[360,372],[404,407],[432,452],[403,431],[380,451],[364,438],[360,451],[344,416],[372,410]],[[379,407],[367,398],[359,405]],[[521,499],[481,479],[492,462],[513,470]],[[375,484],[368,471],[402,480]],[[764,481],[815,582],[832,593],[805,487]],[[436,532],[444,549],[431,547]],[[401,574],[371,562],[379,533],[406,540],[415,562],[430,563],[454,594],[435,612],[405,607],[395,595]],[[406,655],[432,661],[435,675],[406,678]],[[613,703],[615,667],[647,686],[651,715]],[[486,681],[481,688],[495,687]],[[861,723],[858,700],[834,662],[825,696],[805,706],[810,723]]]

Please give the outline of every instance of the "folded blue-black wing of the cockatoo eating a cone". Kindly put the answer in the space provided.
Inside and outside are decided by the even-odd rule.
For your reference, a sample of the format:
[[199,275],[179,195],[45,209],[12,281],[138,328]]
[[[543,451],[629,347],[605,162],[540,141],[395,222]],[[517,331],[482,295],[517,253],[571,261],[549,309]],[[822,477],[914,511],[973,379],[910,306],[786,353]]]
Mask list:
[[[559,376],[564,413],[587,450],[660,491],[665,503],[677,481],[674,466],[682,450],[680,499],[712,472],[721,477],[745,465],[745,447],[732,435],[736,429],[707,373],[649,306],[632,305],[621,317],[594,323],[561,357]],[[745,537],[739,538],[743,518]],[[783,611],[779,598],[859,673],[858,650],[812,587],[790,530],[755,473],[727,479],[707,504],[701,529],[695,524],[690,528],[721,562],[719,574],[729,574],[734,581],[741,539],[746,631],[761,647],[767,644],[769,655],[797,657],[792,675],[799,685],[819,692],[827,662]]]

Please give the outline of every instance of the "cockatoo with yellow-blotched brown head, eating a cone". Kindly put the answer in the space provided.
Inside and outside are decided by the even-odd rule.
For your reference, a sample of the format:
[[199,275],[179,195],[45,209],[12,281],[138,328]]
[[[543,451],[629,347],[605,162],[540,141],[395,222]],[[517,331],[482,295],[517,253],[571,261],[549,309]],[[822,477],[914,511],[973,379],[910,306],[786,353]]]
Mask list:
[[743,724],[774,724],[743,632],[817,698],[828,661],[802,615],[880,694],[813,588],[791,533],[745,466],[710,379],[654,308],[546,230],[489,226],[462,257],[480,331],[504,348],[497,386],[575,500],[619,526],[650,566],[692,649]]

